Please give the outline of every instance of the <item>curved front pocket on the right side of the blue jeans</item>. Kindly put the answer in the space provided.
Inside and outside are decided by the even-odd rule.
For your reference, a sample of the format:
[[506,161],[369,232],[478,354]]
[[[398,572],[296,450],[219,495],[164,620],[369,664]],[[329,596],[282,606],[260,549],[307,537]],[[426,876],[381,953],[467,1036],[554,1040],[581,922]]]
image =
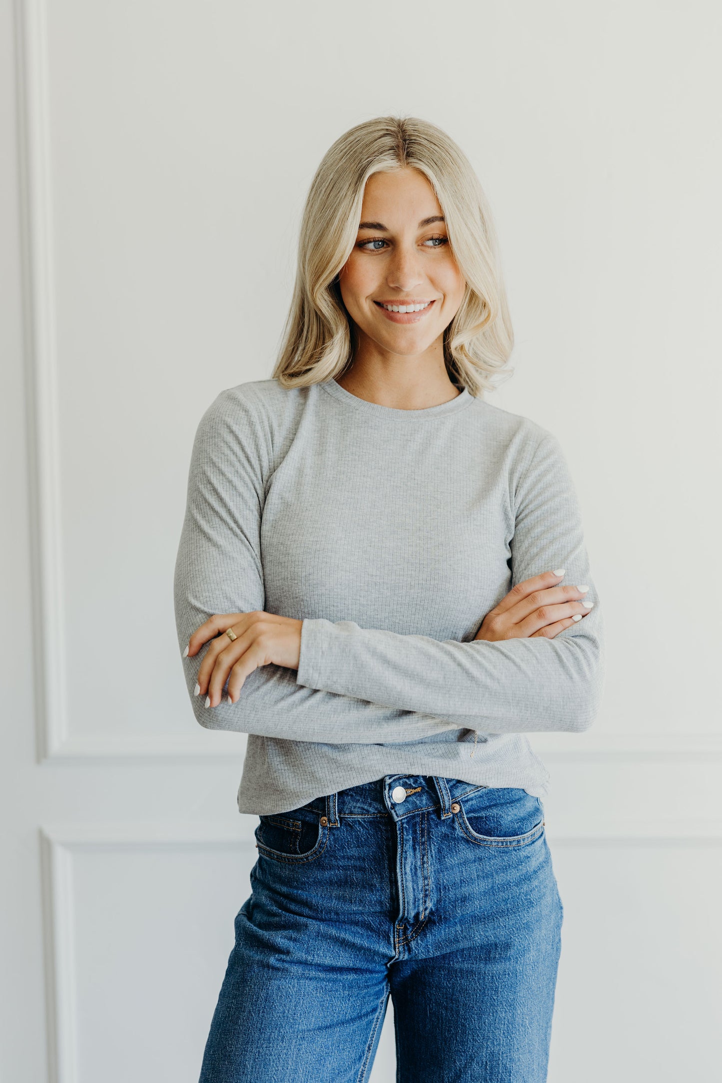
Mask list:
[[477,846],[528,846],[544,831],[538,797],[516,787],[489,787],[456,803],[461,833]]

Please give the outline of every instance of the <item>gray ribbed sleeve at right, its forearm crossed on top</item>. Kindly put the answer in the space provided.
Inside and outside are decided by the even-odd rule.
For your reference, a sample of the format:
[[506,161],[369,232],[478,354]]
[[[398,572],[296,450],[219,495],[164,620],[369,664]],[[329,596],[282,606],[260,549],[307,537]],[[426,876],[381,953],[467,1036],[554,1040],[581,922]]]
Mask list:
[[[304,621],[298,681],[390,707],[443,715],[486,733],[588,729],[603,687],[602,611],[559,442],[544,432],[516,487],[512,586],[564,567],[594,608],[553,639],[435,640]],[[477,630],[477,629],[476,629]]]

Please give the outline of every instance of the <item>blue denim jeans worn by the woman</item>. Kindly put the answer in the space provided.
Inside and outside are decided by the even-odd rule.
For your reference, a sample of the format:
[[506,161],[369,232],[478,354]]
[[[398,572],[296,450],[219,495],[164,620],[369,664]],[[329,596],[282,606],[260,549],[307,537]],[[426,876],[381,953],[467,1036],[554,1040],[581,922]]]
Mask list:
[[199,1083],[362,1083],[389,994],[398,1083],[543,1083],[563,908],[538,797],[388,775],[255,838]]

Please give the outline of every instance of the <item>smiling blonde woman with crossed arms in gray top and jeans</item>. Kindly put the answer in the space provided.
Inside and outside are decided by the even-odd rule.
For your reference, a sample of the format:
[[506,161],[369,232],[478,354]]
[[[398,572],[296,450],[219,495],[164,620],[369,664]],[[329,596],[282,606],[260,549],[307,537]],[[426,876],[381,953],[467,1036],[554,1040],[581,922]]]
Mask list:
[[512,329],[484,195],[417,119],[312,183],[272,379],[193,449],[175,612],[198,721],[260,817],[201,1083],[547,1078],[563,908],[549,774],[601,626],[556,440],[483,401]]

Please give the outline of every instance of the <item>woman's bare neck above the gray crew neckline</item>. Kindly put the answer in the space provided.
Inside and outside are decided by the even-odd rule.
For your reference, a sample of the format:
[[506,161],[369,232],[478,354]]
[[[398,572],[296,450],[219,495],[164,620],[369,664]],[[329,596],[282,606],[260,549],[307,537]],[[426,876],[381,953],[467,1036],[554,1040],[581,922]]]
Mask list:
[[441,406],[456,399],[460,391],[446,371],[441,341],[434,348],[408,357],[369,349],[359,342],[350,367],[336,382],[352,395],[379,406],[394,409]]

